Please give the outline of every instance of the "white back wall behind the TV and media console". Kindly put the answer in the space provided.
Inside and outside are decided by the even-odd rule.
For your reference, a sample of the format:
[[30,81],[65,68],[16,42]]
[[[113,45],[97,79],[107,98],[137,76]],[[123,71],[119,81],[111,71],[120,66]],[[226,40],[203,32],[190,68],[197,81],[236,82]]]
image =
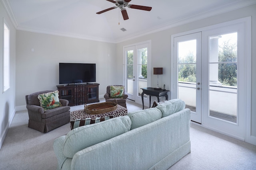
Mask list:
[[96,63],[101,97],[109,84],[118,83],[116,44],[27,31],[17,31],[16,41],[16,106],[26,105],[27,94],[56,90],[59,63]]

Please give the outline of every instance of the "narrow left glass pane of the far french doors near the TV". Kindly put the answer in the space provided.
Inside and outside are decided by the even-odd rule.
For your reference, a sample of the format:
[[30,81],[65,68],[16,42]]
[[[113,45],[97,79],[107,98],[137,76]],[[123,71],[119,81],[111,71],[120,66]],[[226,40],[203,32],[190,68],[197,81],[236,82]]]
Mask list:
[[133,50],[126,51],[126,92],[133,94]]

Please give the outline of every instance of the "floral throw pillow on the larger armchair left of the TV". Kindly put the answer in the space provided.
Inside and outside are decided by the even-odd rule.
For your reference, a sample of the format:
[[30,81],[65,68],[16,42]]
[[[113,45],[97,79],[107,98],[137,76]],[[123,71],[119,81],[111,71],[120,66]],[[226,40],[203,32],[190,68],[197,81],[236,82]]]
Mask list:
[[53,109],[55,107],[62,106],[59,100],[58,90],[54,92],[45,93],[45,94],[39,94],[37,98],[40,101],[40,106],[43,107],[44,110]]

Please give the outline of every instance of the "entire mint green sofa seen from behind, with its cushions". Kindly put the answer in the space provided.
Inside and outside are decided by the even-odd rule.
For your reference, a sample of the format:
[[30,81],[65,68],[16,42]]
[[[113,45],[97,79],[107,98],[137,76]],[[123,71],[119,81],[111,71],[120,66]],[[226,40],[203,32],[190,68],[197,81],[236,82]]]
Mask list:
[[166,170],[190,153],[190,109],[175,99],[78,127],[54,141],[61,170]]

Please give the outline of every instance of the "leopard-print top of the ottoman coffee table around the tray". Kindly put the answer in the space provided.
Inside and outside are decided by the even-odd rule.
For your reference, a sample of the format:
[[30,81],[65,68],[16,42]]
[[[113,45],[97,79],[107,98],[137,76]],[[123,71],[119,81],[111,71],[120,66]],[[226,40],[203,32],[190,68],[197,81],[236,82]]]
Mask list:
[[114,117],[118,117],[118,116],[125,116],[128,114],[128,110],[120,105],[117,105],[117,109],[114,111],[110,111],[107,113],[101,113],[101,114],[97,114],[97,115],[90,115],[84,112],[84,109],[81,110],[76,110],[76,111],[71,111],[70,113],[70,121],[74,121],[77,119],[86,119],[86,118],[94,118],[94,117],[106,117],[106,116],[110,116],[113,115]]

